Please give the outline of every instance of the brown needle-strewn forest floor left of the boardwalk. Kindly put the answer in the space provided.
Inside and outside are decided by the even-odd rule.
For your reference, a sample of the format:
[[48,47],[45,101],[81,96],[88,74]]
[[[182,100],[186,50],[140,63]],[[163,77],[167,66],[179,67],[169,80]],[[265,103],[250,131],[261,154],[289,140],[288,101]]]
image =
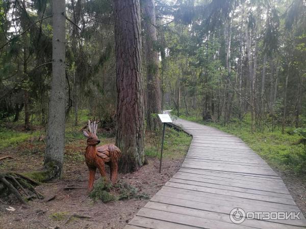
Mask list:
[[[38,131],[29,137],[29,133],[22,132],[16,127],[13,129],[0,129],[0,157],[14,157],[1,160],[0,171],[25,173],[41,168],[45,144],[38,140]],[[9,135],[7,132],[11,132],[10,139],[6,137]],[[80,133],[81,131],[75,132],[71,128],[66,128],[63,179],[37,186],[36,190],[45,198],[30,201],[28,206],[19,204],[14,197],[5,199],[7,205],[0,206],[0,228],[122,228],[148,202],[148,199],[127,199],[103,203],[88,197],[88,168],[83,156],[86,139]],[[167,128],[162,173],[159,174],[159,136],[159,133],[146,133],[148,164],[136,173],[119,174],[118,178],[119,181],[135,186],[139,192],[149,197],[181,167],[191,141],[191,137],[185,133]],[[101,144],[115,141],[107,136],[99,138]],[[4,142],[7,142],[6,146]],[[109,178],[109,168],[106,167]],[[95,184],[99,177],[97,172]],[[54,199],[46,201],[53,196]],[[9,207],[15,210],[7,210]]]

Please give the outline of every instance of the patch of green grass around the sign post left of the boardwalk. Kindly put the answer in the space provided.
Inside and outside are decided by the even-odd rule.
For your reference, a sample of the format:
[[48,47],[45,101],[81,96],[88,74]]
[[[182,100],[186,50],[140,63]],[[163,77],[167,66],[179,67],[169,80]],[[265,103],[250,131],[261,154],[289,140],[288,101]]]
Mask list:
[[[146,132],[145,155],[148,157],[160,157],[162,129],[156,132]],[[185,157],[192,137],[184,132],[166,127],[163,157],[177,159]]]

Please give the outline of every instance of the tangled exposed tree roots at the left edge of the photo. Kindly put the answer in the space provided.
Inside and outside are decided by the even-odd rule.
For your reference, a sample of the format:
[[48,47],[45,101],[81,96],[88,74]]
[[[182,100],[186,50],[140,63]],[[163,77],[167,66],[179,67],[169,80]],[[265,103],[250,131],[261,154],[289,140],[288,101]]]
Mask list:
[[23,204],[27,204],[30,199],[43,198],[43,195],[34,188],[38,184],[37,181],[18,173],[0,173],[0,193],[2,195],[14,194]]

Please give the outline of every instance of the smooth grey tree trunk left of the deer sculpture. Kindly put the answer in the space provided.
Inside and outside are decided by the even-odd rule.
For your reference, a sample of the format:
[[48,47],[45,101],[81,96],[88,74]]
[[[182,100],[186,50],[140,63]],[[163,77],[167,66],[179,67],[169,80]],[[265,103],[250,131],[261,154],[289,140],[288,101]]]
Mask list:
[[54,0],[52,40],[52,88],[48,108],[47,148],[44,166],[53,168],[53,178],[60,178],[63,170],[65,144],[65,1]]

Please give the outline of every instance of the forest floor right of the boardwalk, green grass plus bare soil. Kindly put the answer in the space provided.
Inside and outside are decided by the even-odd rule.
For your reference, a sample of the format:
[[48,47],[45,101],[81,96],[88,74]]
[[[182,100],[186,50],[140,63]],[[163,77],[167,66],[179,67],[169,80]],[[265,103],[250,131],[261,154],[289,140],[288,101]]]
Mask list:
[[[175,111],[173,111],[175,114]],[[192,122],[208,125],[241,138],[253,151],[258,153],[270,167],[282,177],[295,203],[306,217],[306,145],[298,144],[301,139],[294,127],[263,132],[250,131],[250,120],[233,120],[222,123],[203,122],[200,115],[180,116]]]

